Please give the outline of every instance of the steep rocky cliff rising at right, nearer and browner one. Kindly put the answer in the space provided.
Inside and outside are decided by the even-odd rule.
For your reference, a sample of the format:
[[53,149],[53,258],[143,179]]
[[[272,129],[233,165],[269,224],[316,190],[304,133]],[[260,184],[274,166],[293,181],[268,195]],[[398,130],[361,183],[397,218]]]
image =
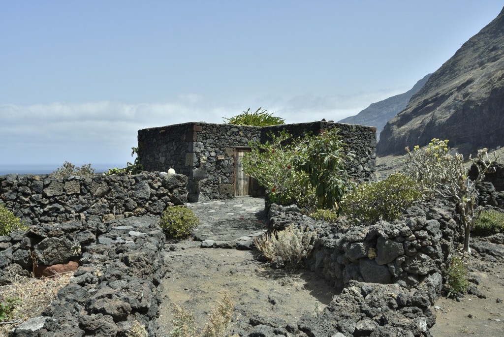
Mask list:
[[449,139],[462,153],[504,145],[504,10],[441,66],[385,125],[379,156]]

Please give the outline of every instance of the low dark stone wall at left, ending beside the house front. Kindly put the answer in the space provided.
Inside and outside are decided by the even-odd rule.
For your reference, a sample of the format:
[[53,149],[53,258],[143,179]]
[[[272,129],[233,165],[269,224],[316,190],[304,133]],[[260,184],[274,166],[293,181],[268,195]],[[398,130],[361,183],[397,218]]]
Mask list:
[[49,175],[0,176],[0,202],[29,224],[72,220],[110,221],[146,214],[187,200],[187,177],[142,172],[93,178]]

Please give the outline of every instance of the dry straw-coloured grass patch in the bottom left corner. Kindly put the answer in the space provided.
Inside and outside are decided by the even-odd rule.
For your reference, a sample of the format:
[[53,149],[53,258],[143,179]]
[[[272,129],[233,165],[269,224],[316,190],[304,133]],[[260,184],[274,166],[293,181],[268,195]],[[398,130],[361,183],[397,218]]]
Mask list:
[[[9,268],[1,271],[10,280],[9,285],[0,287],[0,294],[4,298],[19,298],[9,317],[0,325],[0,335],[7,336],[9,331],[20,323],[36,316],[40,316],[49,303],[57,299],[58,291],[65,287],[74,272],[56,275],[52,278],[35,279],[21,277],[12,273]],[[9,323],[7,323],[9,322]]]

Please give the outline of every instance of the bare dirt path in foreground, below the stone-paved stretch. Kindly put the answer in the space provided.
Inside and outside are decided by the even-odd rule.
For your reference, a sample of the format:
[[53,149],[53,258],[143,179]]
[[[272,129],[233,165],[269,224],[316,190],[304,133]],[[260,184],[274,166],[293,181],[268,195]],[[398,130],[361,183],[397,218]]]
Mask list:
[[235,331],[249,331],[249,318],[283,321],[279,326],[297,326],[301,315],[321,310],[333,296],[333,288],[310,273],[285,274],[254,257],[254,251],[199,248],[186,243],[184,249],[166,253],[168,272],[164,280],[161,317],[165,335],[172,329],[173,304],[193,309],[197,325],[205,325],[210,307],[229,295],[240,317]]

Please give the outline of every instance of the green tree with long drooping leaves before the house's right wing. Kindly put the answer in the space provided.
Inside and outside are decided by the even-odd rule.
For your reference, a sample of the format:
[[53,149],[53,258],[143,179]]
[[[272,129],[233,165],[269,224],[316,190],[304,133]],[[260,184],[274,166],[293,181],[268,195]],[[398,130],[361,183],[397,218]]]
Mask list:
[[346,162],[355,154],[345,150],[339,129],[332,128],[315,137],[305,137],[296,147],[292,163],[305,173],[305,183],[313,186],[317,208],[336,209],[349,187]]

